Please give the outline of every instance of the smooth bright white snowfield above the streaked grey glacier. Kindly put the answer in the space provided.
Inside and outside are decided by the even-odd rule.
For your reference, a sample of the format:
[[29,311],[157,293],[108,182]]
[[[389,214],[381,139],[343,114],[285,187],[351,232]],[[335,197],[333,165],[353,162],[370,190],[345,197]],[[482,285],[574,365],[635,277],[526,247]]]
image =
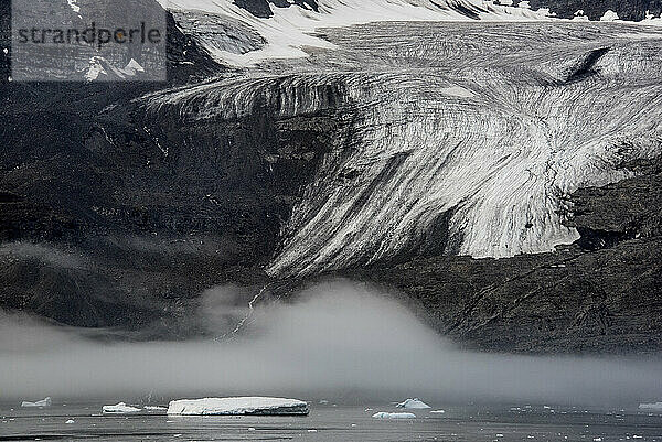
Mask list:
[[[532,11],[483,0],[318,0],[318,12],[297,4],[289,8],[271,6],[274,17],[258,19],[234,4],[233,0],[162,0],[162,4],[171,10],[215,14],[217,23],[232,28],[238,22],[261,35],[266,45],[246,53],[236,53],[234,47],[224,48],[217,42],[197,39],[217,61],[236,66],[306,56],[309,47],[333,47],[313,35],[316,30],[323,28],[393,21],[522,21],[549,18],[546,9]],[[205,33],[203,28],[209,28],[206,19],[209,15],[205,20],[180,21],[178,24],[184,32],[197,35]],[[241,29],[235,31],[241,34]]]

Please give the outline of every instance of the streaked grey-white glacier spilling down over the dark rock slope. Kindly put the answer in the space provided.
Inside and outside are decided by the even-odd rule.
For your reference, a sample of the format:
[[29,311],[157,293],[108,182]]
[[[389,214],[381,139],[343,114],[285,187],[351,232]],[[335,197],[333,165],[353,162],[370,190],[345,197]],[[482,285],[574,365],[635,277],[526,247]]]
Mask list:
[[[145,98],[149,112],[188,121],[241,118],[255,104],[276,118],[333,108],[351,121],[284,226],[270,274],[428,251],[552,251],[579,237],[564,224],[570,193],[631,177],[623,164],[661,153],[654,28],[419,23],[330,35],[339,48],[307,72]],[[595,51],[596,75],[577,74]],[[348,71],[329,68],[340,63]],[[456,88],[470,94],[447,93]]]

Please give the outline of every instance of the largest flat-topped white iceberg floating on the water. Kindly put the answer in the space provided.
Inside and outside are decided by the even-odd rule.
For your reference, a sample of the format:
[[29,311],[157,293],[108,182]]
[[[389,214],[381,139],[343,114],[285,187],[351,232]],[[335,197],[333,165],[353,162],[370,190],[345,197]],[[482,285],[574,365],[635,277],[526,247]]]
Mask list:
[[306,416],[308,403],[298,399],[239,397],[182,399],[170,401],[168,414],[185,416]]

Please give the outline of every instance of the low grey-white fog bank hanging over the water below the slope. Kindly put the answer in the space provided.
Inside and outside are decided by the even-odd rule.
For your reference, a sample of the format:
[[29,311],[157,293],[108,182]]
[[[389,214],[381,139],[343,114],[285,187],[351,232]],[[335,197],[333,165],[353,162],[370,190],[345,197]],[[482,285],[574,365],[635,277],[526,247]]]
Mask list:
[[[77,330],[0,313],[0,391],[8,398],[278,395],[339,401],[546,401],[638,403],[662,398],[662,364],[461,352],[407,309],[345,281],[306,290],[296,303],[236,306],[245,289],[200,302],[222,339],[99,343]],[[255,295],[255,293],[253,293]],[[247,298],[247,302],[250,298]],[[225,332],[224,332],[225,331]]]

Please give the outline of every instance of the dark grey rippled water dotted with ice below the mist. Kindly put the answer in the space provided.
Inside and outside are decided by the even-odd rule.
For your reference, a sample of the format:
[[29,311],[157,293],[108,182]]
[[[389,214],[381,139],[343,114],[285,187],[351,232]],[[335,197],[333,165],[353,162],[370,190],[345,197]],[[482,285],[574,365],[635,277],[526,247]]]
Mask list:
[[[12,409],[13,407],[13,409]],[[102,416],[102,403],[0,407],[0,441],[662,441],[662,413],[553,406],[437,407],[377,420],[389,405],[313,405],[308,417]],[[367,408],[367,410],[366,410]],[[74,423],[65,423],[67,420]]]

